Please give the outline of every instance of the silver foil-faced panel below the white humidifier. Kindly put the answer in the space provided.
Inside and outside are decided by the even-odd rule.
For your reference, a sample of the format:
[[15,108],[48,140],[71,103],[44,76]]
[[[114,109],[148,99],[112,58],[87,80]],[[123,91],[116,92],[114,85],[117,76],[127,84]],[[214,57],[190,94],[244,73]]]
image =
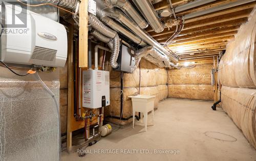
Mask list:
[[[0,70],[0,160],[59,160],[53,98],[34,75],[20,79],[8,69]],[[59,100],[58,72],[42,77]]]

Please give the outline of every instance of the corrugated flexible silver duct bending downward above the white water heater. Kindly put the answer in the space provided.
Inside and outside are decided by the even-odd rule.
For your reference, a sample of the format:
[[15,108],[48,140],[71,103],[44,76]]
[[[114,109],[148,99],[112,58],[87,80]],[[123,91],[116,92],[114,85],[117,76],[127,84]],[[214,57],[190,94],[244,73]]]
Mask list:
[[93,29],[97,30],[102,35],[105,35],[106,37],[109,37],[112,39],[113,47],[112,47],[112,55],[110,58],[110,64],[111,67],[116,69],[118,67],[117,58],[119,55],[119,36],[116,31],[108,28],[106,25],[104,25],[97,17],[95,17],[92,14],[89,14],[89,25],[92,26]]

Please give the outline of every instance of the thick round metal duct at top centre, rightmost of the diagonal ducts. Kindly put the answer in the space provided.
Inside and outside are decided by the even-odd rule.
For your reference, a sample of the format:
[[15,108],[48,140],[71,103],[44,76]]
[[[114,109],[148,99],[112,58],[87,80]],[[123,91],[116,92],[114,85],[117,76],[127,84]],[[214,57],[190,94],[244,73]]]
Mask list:
[[161,33],[164,30],[165,25],[160,21],[154,7],[148,0],[133,0],[134,4],[141,11],[142,15],[150,23],[152,29],[156,33]]

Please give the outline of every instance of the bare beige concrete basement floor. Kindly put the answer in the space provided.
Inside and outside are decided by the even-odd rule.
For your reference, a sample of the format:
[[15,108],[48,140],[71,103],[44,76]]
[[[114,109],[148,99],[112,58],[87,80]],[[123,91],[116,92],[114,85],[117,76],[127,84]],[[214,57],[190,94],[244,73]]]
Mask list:
[[[211,105],[207,101],[166,99],[155,111],[154,126],[151,114],[148,116],[147,132],[141,123],[134,129],[130,125],[89,147],[91,153],[85,157],[63,152],[62,160],[256,160],[256,152],[241,130],[221,109],[212,111]],[[95,149],[118,149],[119,154],[93,154]],[[125,149],[135,154],[123,154]],[[152,154],[143,154],[148,152],[143,149]],[[180,152],[155,154],[155,149]]]

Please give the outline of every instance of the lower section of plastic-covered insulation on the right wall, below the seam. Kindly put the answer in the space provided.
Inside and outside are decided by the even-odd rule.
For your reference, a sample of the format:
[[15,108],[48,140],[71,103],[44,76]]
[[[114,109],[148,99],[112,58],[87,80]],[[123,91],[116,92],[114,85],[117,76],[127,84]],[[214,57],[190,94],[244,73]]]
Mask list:
[[223,110],[256,149],[256,89],[222,86],[221,99]]

